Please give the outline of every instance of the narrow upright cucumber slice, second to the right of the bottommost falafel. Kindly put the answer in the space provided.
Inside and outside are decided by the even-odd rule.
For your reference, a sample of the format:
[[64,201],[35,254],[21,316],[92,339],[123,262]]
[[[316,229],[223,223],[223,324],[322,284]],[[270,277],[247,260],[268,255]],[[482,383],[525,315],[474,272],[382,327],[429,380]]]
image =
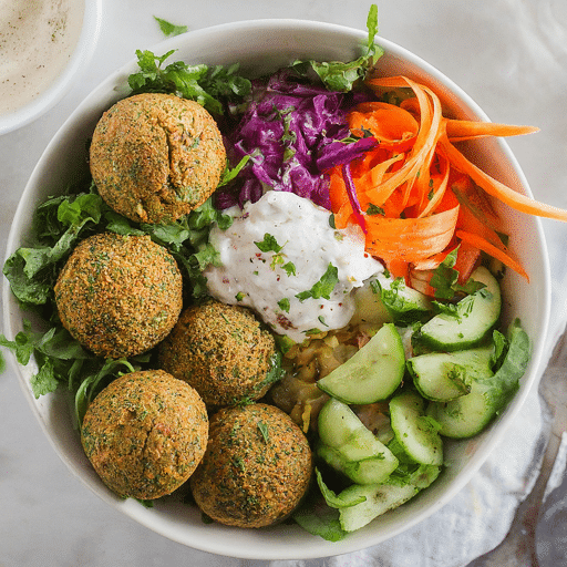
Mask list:
[[390,400],[395,439],[408,455],[425,465],[443,464],[443,440],[425,416],[425,402],[417,393],[402,392]]

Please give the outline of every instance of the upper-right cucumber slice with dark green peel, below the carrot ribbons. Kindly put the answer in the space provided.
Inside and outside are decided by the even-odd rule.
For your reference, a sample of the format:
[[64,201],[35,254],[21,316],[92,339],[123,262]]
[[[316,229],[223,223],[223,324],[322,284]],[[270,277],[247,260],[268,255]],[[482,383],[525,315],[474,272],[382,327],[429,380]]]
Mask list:
[[484,266],[471,279],[485,287],[466,296],[456,305],[456,313],[440,313],[415,334],[416,340],[434,350],[454,351],[477,346],[496,324],[501,315],[501,288]]

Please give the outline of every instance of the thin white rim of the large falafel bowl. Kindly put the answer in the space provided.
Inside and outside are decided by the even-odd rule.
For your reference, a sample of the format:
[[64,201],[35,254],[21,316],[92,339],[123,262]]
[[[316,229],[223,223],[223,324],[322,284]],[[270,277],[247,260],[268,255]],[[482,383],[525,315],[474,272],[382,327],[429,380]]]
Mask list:
[[[355,41],[364,42],[368,38],[368,33],[344,27],[339,24],[332,24],[332,23],[326,23],[326,22],[318,22],[318,21],[311,21],[311,20],[296,20],[296,19],[259,19],[259,20],[244,20],[244,21],[237,21],[237,22],[230,22],[230,23],[223,23],[217,25],[212,25],[208,28],[203,28],[195,31],[189,31],[185,34],[166,39],[157,44],[155,44],[153,48],[154,53],[157,52],[157,50],[161,50],[163,52],[166,52],[171,49],[176,49],[178,45],[183,45],[186,42],[198,42],[203,38],[207,38],[210,35],[216,34],[224,34],[227,32],[238,32],[238,33],[247,33],[251,30],[267,30],[267,31],[295,31],[298,29],[308,30],[308,31],[324,31],[324,32],[337,32],[343,35],[349,35],[349,41],[352,41],[354,43]],[[481,120],[489,120],[487,115],[484,113],[484,111],[468,96],[458,85],[456,85],[451,79],[445,76],[441,71],[435,69],[433,65],[427,63],[426,61],[422,60],[420,56],[413,54],[412,52],[408,51],[406,49],[382,38],[377,37],[375,41],[378,44],[384,48],[385,51],[389,51],[390,53],[393,53],[398,56],[401,56],[405,60],[408,60],[410,63],[416,65],[421,70],[423,70],[424,73],[430,74],[434,76],[436,80],[441,81],[452,93],[454,93],[460,101],[462,101],[473,113],[475,113],[478,118]],[[18,230],[17,227],[22,224],[22,220],[25,217],[25,196],[30,193],[30,187],[33,187],[34,184],[38,183],[38,176],[41,174],[42,163],[45,159],[45,156],[50,155],[50,152],[53,150],[53,147],[56,146],[60,138],[64,135],[65,131],[68,130],[70,124],[73,124],[73,122],[81,115],[85,106],[89,104],[89,102],[92,99],[95,99],[99,93],[102,93],[104,91],[107,91],[110,85],[114,84],[116,80],[126,73],[132,72],[132,70],[136,66],[136,61],[131,60],[130,62],[122,65],[120,69],[111,73],[105,80],[100,82],[97,86],[95,86],[91,93],[83,99],[83,101],[78,105],[78,107],[73,111],[73,113],[66,118],[66,121],[62,124],[62,126],[58,130],[53,138],[50,141],[49,145],[47,146],[45,151],[43,152],[42,156],[40,157],[38,164],[35,165],[30,179],[25,186],[25,189],[22,194],[22,198],[20,199],[20,203],[18,205],[14,220],[12,224],[12,228],[10,230],[10,235],[8,238],[8,245],[7,245],[7,258],[11,251],[13,251],[14,245],[17,244],[18,238]],[[501,146],[503,153],[505,154],[507,161],[514,168],[514,172],[519,177],[519,182],[527,193],[527,195],[532,196],[532,192],[529,188],[529,185],[527,183],[527,179],[525,178],[524,173],[522,172],[522,168],[519,167],[519,164],[517,163],[515,156],[513,155],[512,151],[509,150],[508,145],[505,141],[498,140],[498,145]],[[427,517],[430,517],[432,514],[437,512],[442,506],[444,506],[446,503],[449,503],[451,499],[454,498],[454,496],[471,481],[473,475],[480,470],[480,467],[484,464],[484,462],[488,458],[489,454],[493,452],[495,446],[499,443],[499,441],[503,439],[503,436],[506,433],[506,430],[508,429],[511,422],[513,419],[519,413],[522,405],[524,404],[526,398],[530,393],[530,391],[534,389],[535,384],[538,381],[539,378],[539,368],[543,362],[543,344],[545,343],[545,336],[548,331],[548,322],[549,322],[549,312],[550,312],[550,270],[549,270],[549,259],[547,255],[547,247],[545,243],[545,236],[543,233],[542,221],[539,218],[534,218],[535,223],[535,230],[537,233],[538,238],[538,246],[539,251],[543,255],[542,262],[544,267],[544,306],[545,310],[542,313],[538,313],[539,316],[539,327],[542,331],[542,338],[538,342],[539,348],[536,349],[533,352],[532,358],[532,368],[533,371],[530,373],[530,383],[527,388],[524,388],[520,390],[516,398],[514,399],[514,403],[508,406],[506,412],[499,416],[499,422],[502,422],[502,425],[498,426],[495,431],[491,432],[489,439],[484,442],[484,446],[486,447],[483,457],[476,458],[474,462],[468,463],[468,465],[461,471],[458,478],[456,478],[453,484],[450,486],[450,489],[447,489],[441,498],[439,498],[436,502],[431,504],[425,512],[421,512],[420,514],[416,514],[414,517],[412,517],[410,520],[405,520],[403,525],[398,525],[396,528],[390,529],[385,536],[378,536],[378,537],[367,537],[363,542],[360,540],[360,538],[353,537],[353,538],[346,538],[338,543],[330,543],[327,540],[323,540],[322,538],[313,539],[309,543],[309,545],[302,546],[299,544],[299,546],[293,546],[293,548],[284,548],[282,546],[279,546],[275,549],[265,549],[261,546],[259,548],[254,548],[251,546],[248,546],[245,548],[237,548],[237,549],[223,549],[224,546],[221,543],[212,544],[207,538],[200,538],[198,530],[193,537],[186,537],[185,535],[181,534],[179,530],[175,528],[175,526],[172,526],[167,524],[167,522],[164,523],[164,525],[156,526],[155,525],[155,517],[152,516],[152,511],[147,511],[146,508],[143,508],[138,503],[134,503],[130,501],[120,501],[114,497],[107,491],[102,483],[94,484],[93,482],[90,482],[89,478],[85,477],[82,473],[82,470],[78,464],[70,458],[68,454],[62,451],[61,446],[58,446],[52,435],[50,435],[49,430],[47,427],[47,424],[41,419],[41,415],[38,412],[38,409],[35,406],[35,401],[33,399],[33,395],[31,393],[31,390],[25,382],[24,377],[21,373],[21,369],[16,363],[14,357],[12,355],[12,362],[14,363],[14,368],[17,370],[17,373],[19,375],[19,382],[20,385],[24,392],[24,395],[27,396],[33,413],[35,414],[37,419],[40,422],[41,427],[43,429],[45,435],[48,436],[49,442],[54,447],[55,452],[60,456],[60,458],[65,463],[68,468],[80,478],[80,481],[86,485],[92,492],[94,492],[99,497],[101,497],[104,502],[111,504],[114,508],[120,509],[128,517],[135,519],[137,523],[144,525],[145,527],[148,527],[150,529],[163,535],[164,537],[167,537],[172,540],[175,540],[177,543],[184,544],[188,547],[199,549],[207,553],[213,553],[217,555],[226,555],[230,557],[236,558],[243,558],[243,559],[264,559],[264,560],[277,560],[277,559],[312,559],[312,558],[321,558],[321,557],[329,557],[334,555],[342,555],[347,553],[357,551],[363,548],[368,548],[373,545],[378,545],[380,543],[385,542],[386,539],[390,539],[402,532],[406,532],[408,529],[414,527],[419,523],[423,522]],[[3,289],[2,289],[2,300],[4,305],[4,313],[3,313],[3,321],[4,321],[4,329],[7,337],[9,339],[13,339],[13,337],[9,337],[9,333],[12,333],[11,328],[11,313],[8,308],[10,305],[10,286],[4,278],[3,281]],[[173,528],[173,530],[172,530]],[[210,528],[210,526],[208,527]],[[225,527],[220,526],[220,529],[224,530]],[[316,536],[310,536],[315,538]]]

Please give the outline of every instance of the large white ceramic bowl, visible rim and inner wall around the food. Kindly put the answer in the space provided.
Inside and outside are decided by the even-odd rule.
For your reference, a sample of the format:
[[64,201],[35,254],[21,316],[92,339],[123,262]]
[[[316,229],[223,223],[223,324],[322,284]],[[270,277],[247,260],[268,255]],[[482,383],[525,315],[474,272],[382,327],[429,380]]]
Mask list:
[[[367,40],[363,31],[338,25],[293,20],[250,21],[218,25],[169,39],[154,48],[156,54],[177,49],[175,59],[189,63],[229,64],[240,62],[249,72],[275,70],[295,58],[350,60],[360,54]],[[385,55],[378,68],[384,74],[408,74],[432,85],[443,103],[457,117],[487,120],[483,111],[453,82],[430,64],[391,42],[380,40]],[[70,116],[49,144],[23,193],[9,238],[8,252],[25,241],[32,210],[47,195],[64,187],[84,163],[86,140],[101,113],[124,93],[126,76],[135,62],[104,81]],[[476,144],[475,157],[491,174],[520,193],[530,195],[526,179],[501,141]],[[529,390],[537,382],[549,312],[549,267],[538,219],[503,210],[511,227],[513,248],[530,274],[529,285],[508,270],[504,282],[506,320],[519,317],[533,339],[533,357],[522,386],[507,410],[483,434],[470,441],[449,443],[449,466],[426,491],[402,507],[377,518],[339,543],[311,536],[299,526],[285,525],[241,530],[204,524],[200,513],[187,506],[156,504],[147,509],[134,499],[120,499],[99,480],[73,430],[63,392],[35,400],[29,379],[32,368],[19,368],[23,392],[53,447],[69,468],[101,498],[148,528],[193,548],[250,559],[298,559],[344,554],[379,544],[423,522],[446,504],[474,475],[508,424],[519,412]],[[22,327],[22,313],[4,284],[6,333],[14,336]]]

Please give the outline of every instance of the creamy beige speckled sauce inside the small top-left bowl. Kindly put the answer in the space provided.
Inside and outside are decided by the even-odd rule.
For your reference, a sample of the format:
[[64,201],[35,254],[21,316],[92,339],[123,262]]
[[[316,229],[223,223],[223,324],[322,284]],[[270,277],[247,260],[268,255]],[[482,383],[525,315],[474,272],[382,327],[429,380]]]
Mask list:
[[0,0],[0,114],[33,101],[62,73],[83,14],[82,0]]

